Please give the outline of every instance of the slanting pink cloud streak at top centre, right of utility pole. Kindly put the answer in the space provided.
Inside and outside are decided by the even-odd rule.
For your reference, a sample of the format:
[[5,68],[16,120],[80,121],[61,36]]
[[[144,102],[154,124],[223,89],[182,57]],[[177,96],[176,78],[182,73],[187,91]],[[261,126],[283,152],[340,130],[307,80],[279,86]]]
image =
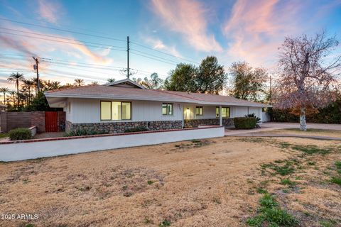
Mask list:
[[205,9],[194,0],[152,0],[153,12],[168,28],[183,35],[193,48],[205,52],[222,51],[215,36],[207,33]]

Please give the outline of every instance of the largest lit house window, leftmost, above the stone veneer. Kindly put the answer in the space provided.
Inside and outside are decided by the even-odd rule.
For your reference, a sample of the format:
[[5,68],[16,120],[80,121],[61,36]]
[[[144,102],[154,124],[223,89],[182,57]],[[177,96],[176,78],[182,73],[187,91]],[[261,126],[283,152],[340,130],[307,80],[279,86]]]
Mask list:
[[131,120],[131,102],[101,101],[101,121]]

